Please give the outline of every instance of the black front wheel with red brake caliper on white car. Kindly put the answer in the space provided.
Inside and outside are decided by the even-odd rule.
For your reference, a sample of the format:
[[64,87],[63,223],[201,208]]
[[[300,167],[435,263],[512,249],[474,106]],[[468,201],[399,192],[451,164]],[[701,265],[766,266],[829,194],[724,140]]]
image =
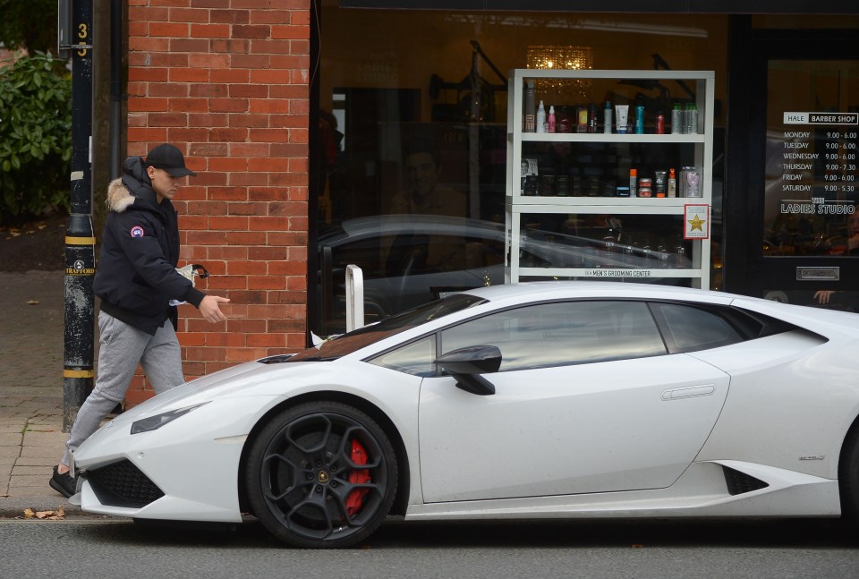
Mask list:
[[307,403],[259,431],[245,473],[259,521],[302,549],[363,541],[394,502],[394,448],[365,413],[336,402]]

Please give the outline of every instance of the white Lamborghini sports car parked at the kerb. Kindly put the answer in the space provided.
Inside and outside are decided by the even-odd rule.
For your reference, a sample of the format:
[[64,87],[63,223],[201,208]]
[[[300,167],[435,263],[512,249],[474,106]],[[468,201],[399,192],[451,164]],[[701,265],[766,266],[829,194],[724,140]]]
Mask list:
[[859,514],[859,315],[496,285],[193,380],[75,453],[73,502],[302,548],[408,520]]

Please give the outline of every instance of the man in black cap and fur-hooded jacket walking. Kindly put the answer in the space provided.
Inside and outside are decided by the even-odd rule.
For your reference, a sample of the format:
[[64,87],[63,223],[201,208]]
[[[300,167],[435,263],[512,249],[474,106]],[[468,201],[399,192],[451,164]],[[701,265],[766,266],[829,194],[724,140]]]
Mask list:
[[123,176],[107,188],[109,210],[92,285],[101,298],[98,378],[50,481],[66,497],[77,485],[69,468],[72,453],[122,403],[138,364],[156,393],[185,381],[171,302],[193,304],[210,322],[226,319],[220,304],[228,299],[200,292],[176,271],[179,228],[171,200],[187,175],[197,174],[185,167],[182,151],[164,144],[145,160],[126,159]]

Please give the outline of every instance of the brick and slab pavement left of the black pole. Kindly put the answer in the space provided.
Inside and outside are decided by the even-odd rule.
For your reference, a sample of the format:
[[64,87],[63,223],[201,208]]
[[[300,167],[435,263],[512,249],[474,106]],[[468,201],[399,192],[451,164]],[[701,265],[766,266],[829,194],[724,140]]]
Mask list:
[[0,272],[0,518],[80,515],[48,486],[63,455],[65,277]]

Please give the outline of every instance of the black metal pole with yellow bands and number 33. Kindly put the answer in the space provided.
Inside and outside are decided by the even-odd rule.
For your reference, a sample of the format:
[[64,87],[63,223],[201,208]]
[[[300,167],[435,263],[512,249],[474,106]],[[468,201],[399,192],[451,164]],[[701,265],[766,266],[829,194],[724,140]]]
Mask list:
[[95,237],[92,233],[92,0],[72,2],[72,211],[65,231],[63,431],[92,389]]

